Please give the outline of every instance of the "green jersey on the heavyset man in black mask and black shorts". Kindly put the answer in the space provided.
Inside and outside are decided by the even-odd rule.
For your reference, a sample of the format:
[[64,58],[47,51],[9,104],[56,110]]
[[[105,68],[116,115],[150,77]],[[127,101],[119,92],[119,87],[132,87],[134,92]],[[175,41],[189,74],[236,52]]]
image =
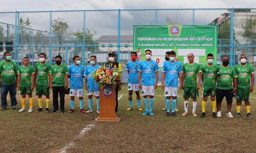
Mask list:
[[236,71],[233,67],[219,66],[217,88],[228,90],[233,88],[233,78],[237,77]]

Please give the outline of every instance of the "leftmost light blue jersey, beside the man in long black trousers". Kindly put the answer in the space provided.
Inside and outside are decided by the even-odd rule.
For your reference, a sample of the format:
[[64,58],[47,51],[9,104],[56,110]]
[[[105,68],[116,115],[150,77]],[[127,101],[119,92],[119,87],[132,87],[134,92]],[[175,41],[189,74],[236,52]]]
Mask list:
[[68,75],[70,76],[70,89],[82,89],[84,87],[84,66],[75,64],[68,67]]

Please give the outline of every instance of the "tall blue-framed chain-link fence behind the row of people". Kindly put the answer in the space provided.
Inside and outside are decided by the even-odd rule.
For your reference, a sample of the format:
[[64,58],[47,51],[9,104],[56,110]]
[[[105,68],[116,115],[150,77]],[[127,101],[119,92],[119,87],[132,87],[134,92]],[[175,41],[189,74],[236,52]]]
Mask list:
[[133,25],[218,25],[217,64],[228,55],[230,65],[236,65],[245,54],[256,68],[256,10],[248,8],[0,12],[0,58],[11,51],[17,64],[28,56],[34,65],[43,52],[51,64],[61,55],[69,65],[79,55],[87,66],[96,55],[103,66],[111,49],[125,69],[133,51]]

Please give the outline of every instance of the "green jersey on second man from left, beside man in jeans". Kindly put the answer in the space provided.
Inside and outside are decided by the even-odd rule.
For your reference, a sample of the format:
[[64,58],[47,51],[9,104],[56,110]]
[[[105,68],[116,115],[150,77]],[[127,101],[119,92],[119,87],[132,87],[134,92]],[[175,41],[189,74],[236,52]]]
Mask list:
[[20,75],[20,86],[28,87],[31,86],[31,76],[35,74],[35,70],[31,65],[24,67],[20,66],[18,70],[18,74]]

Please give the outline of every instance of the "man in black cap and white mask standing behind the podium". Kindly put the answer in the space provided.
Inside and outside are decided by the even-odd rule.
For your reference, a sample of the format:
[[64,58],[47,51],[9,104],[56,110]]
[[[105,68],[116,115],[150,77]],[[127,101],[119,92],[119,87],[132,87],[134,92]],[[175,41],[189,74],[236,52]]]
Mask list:
[[[105,69],[118,69],[120,71],[120,74],[123,72],[121,64],[118,62],[115,62],[116,60],[116,54],[115,52],[110,52],[108,53],[108,62],[104,64]],[[116,86],[116,112],[117,112],[117,107],[118,107],[118,91],[122,89],[122,78],[120,77],[119,84]]]

